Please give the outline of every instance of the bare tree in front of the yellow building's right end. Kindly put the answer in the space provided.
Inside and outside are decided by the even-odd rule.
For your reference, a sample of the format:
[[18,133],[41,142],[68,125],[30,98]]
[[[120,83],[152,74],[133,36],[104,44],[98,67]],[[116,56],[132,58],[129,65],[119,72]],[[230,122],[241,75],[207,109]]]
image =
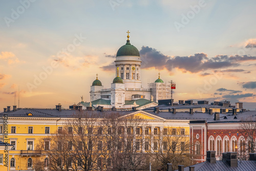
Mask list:
[[166,170],[167,163],[172,163],[174,169],[178,165],[191,165],[193,158],[189,153],[191,143],[185,129],[164,128],[159,135],[154,136],[151,150],[147,151],[152,160],[152,170]]

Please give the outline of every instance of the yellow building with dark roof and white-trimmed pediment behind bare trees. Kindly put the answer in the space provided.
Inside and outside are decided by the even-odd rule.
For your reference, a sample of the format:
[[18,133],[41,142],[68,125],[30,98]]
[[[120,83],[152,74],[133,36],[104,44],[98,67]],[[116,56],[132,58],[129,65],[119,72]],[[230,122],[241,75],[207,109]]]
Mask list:
[[[7,141],[14,146],[14,149],[9,150],[9,170],[31,170],[35,169],[38,163],[47,169],[49,158],[43,151],[37,149],[37,145],[47,137],[56,135],[79,110],[81,108],[61,109],[60,104],[56,105],[55,109],[16,109],[14,106],[11,110],[8,106],[5,112],[0,114],[8,118],[7,120],[4,117],[0,119],[2,133],[0,141]],[[197,120],[199,116],[204,119],[214,117],[208,113],[105,111],[103,109],[91,110],[90,107],[82,111],[97,114],[98,120],[102,120],[112,113],[118,113],[120,117],[134,115],[142,118],[146,125],[133,128],[133,130],[138,130],[137,134],[147,139],[137,147],[137,150],[143,153],[150,151],[151,147],[154,150],[160,145],[165,148],[164,142],[163,144],[157,142],[160,135],[182,135],[189,141],[189,120]],[[51,142],[47,143],[47,148],[51,149],[51,144]],[[0,161],[2,154],[5,155],[0,152]],[[0,170],[6,168],[0,163]]]

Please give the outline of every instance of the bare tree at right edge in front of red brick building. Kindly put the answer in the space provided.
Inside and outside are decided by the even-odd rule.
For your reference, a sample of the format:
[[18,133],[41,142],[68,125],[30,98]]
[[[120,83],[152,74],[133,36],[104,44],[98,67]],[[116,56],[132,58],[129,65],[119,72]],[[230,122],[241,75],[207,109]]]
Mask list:
[[242,137],[237,143],[239,150],[238,156],[241,160],[246,160],[249,158],[249,153],[255,153],[256,121],[252,117],[248,118],[247,120],[242,120],[238,133]]

